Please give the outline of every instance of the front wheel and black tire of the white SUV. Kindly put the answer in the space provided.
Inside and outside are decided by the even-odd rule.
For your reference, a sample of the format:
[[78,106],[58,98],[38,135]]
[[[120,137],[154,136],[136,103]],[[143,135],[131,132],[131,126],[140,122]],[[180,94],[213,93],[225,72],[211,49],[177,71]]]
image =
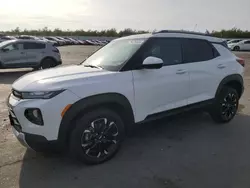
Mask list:
[[124,123],[112,110],[87,112],[76,120],[70,135],[70,154],[86,164],[103,163],[118,152],[124,135]]

